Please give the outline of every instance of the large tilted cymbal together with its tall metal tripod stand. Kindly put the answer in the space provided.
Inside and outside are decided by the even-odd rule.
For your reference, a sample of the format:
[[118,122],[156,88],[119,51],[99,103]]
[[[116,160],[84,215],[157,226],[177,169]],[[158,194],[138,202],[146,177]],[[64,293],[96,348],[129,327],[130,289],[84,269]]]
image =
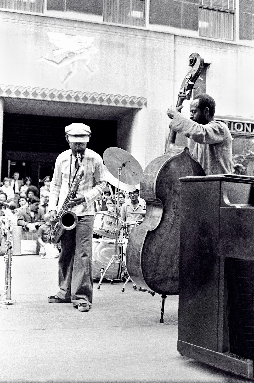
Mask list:
[[[101,278],[97,286],[98,290],[100,289],[100,285],[102,284],[102,280],[104,278],[105,273],[107,272],[108,268],[111,266],[112,263],[114,263],[114,266],[115,266],[115,262],[120,263],[122,267],[124,268],[125,272],[128,273],[126,265],[124,264],[123,260],[121,260],[117,251],[118,235],[121,229],[120,228],[118,231],[118,224],[120,221],[119,215],[118,215],[119,214],[120,176],[122,176],[121,182],[124,182],[128,185],[133,185],[132,188],[134,189],[132,191],[134,191],[136,189],[135,185],[140,183],[140,180],[143,174],[143,169],[141,165],[139,164],[139,162],[131,154],[129,154],[125,150],[120,149],[118,147],[111,147],[106,149],[103,154],[103,160],[105,165],[107,166],[109,173],[113,175],[113,177],[115,178],[116,178],[116,175],[118,177],[118,183],[117,183],[118,191],[117,191],[117,208],[116,208],[115,254],[112,255],[111,260],[108,263],[106,269],[101,274]],[[111,283],[113,283],[113,277],[111,278]],[[133,287],[134,286],[136,287],[136,284],[133,282]]]

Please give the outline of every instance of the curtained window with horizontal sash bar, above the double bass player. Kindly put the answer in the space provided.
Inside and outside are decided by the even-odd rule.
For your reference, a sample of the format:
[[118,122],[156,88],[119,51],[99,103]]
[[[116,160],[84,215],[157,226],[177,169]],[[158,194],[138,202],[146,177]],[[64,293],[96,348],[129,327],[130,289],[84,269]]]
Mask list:
[[199,0],[199,35],[234,40],[234,0]]

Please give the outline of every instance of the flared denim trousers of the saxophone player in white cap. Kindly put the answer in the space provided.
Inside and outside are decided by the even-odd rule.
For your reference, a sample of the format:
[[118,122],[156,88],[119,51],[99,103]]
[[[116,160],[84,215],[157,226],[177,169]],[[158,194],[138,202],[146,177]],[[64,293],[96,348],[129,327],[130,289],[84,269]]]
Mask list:
[[92,239],[94,217],[79,216],[77,226],[65,230],[58,259],[59,298],[73,306],[93,301]]

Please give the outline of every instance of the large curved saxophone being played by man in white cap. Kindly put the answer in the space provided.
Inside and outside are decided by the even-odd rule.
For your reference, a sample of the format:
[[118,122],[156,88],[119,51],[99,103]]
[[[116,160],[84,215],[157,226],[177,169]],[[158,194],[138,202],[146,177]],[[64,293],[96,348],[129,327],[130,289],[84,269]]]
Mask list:
[[72,185],[68,191],[67,197],[64,200],[64,203],[56,215],[56,219],[51,222],[51,230],[48,235],[48,239],[52,244],[56,244],[60,241],[62,234],[65,230],[72,230],[77,226],[78,218],[73,211],[69,211],[71,208],[70,200],[75,198],[79,188],[80,181],[84,175],[84,167],[81,164],[81,155],[77,153],[77,160],[79,164],[79,169],[75,176],[75,179],[72,182]]

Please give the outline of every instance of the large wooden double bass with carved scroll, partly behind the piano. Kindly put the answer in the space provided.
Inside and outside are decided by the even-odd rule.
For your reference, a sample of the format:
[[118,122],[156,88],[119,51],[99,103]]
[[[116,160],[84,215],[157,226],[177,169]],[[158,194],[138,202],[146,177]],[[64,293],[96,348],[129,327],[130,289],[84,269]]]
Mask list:
[[[197,53],[188,59],[191,69],[180,87],[177,106],[190,100],[204,61]],[[147,165],[140,183],[146,201],[143,222],[131,230],[126,248],[126,267],[142,288],[162,295],[178,294],[180,241],[180,177],[205,175],[187,147],[176,153],[176,133],[170,131],[166,154]],[[191,223],[190,223],[191,224]]]

